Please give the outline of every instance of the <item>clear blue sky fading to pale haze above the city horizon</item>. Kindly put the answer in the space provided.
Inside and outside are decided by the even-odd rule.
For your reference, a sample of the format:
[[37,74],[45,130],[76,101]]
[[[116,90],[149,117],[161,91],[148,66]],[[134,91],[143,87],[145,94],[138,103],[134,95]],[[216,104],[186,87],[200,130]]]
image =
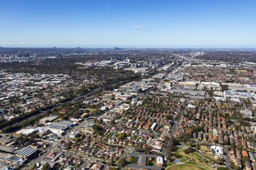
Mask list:
[[256,48],[256,1],[0,0],[0,46]]

